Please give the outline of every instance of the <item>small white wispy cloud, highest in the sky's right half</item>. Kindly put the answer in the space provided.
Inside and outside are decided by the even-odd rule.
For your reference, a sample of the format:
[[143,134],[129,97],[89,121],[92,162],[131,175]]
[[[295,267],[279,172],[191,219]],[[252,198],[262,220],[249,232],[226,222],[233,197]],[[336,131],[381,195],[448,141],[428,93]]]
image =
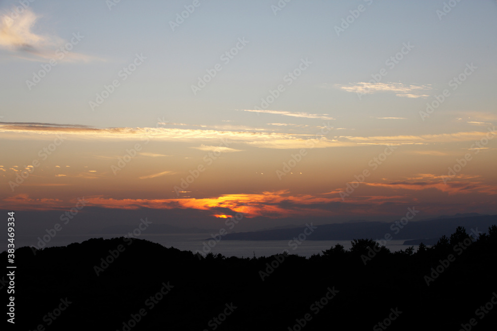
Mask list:
[[373,94],[377,92],[395,92],[398,97],[406,98],[426,98],[429,95],[423,94],[423,91],[430,90],[429,85],[404,85],[402,83],[367,83],[358,82],[348,85],[335,84],[334,87],[347,92],[358,94]]

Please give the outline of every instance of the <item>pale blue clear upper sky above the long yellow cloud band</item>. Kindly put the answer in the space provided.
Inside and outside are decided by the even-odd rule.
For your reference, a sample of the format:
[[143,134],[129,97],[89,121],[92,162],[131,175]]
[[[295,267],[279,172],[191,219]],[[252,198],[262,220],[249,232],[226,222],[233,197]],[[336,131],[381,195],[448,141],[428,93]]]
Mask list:
[[[2,1],[1,7],[8,12],[16,3]],[[0,86],[4,121],[148,127],[166,117],[171,123],[222,125],[231,120],[257,127],[265,124],[261,118],[241,110],[260,104],[269,89],[308,58],[309,69],[269,109],[330,114],[343,126],[366,129],[369,116],[415,119],[425,98],[406,100],[384,92],[359,101],[335,85],[368,81],[388,69],[385,61],[403,43],[411,43],[413,50],[388,69],[382,83],[430,84],[425,94],[431,97],[466,63],[474,63],[480,70],[471,84],[448,102],[453,111],[470,111],[477,101],[484,102],[483,110],[493,110],[495,1],[461,1],[441,20],[436,10],[443,1],[368,3],[291,1],[274,15],[270,5],[277,1],[200,1],[173,32],[168,22],[191,1],[121,1],[111,10],[105,1],[34,1],[28,9],[36,15],[33,33],[57,37],[59,43],[50,45],[55,50],[79,32],[84,38],[74,53],[93,58],[61,63],[29,91],[25,81],[48,59],[26,61],[2,52],[2,73],[8,77]],[[337,36],[334,26],[359,5],[365,10]],[[220,56],[243,37],[247,46],[224,65]],[[92,112],[88,102],[119,78],[135,54],[147,58],[143,66]],[[222,71],[194,96],[191,85],[218,63]],[[281,122],[281,116],[266,119]],[[419,130],[428,131],[425,125]]]

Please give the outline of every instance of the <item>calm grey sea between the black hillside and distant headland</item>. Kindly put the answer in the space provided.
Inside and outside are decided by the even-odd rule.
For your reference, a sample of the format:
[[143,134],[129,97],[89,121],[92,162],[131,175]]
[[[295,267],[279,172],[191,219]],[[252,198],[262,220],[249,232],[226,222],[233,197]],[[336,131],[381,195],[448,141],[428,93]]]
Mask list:
[[[46,244],[45,247],[67,246],[71,243],[81,243],[90,238],[103,237],[105,239],[120,237],[121,235],[78,235],[78,236],[63,236],[57,235]],[[304,257],[310,257],[313,254],[321,253],[333,247],[335,244],[340,244],[345,249],[350,249],[350,240],[307,240],[303,241],[295,248],[295,244],[289,246],[287,240],[258,240],[258,241],[240,241],[240,240],[221,240],[214,243],[209,242],[209,234],[145,234],[139,238],[149,240],[154,243],[161,244],[165,247],[174,247],[181,251],[197,251],[201,253],[212,252],[213,254],[222,254],[226,257],[256,257],[271,256],[280,254],[284,250],[288,250],[290,254],[297,254]],[[37,246],[37,237],[16,237],[16,247],[22,246]],[[204,244],[205,243],[205,244]],[[402,245],[404,240],[391,240],[387,243],[387,247],[391,252],[405,250],[409,246]],[[209,247],[209,245],[213,247]],[[295,248],[295,249],[294,249]],[[414,246],[417,249],[417,246]],[[2,248],[1,251],[5,250]]]

